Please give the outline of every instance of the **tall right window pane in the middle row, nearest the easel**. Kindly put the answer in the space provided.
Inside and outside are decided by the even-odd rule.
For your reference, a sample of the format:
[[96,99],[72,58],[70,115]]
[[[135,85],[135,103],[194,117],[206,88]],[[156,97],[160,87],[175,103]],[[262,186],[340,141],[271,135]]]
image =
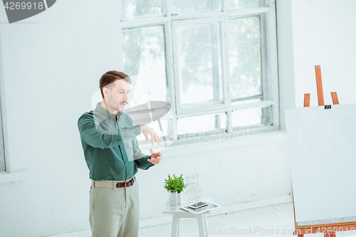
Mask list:
[[231,99],[262,94],[258,16],[229,21],[229,70]]

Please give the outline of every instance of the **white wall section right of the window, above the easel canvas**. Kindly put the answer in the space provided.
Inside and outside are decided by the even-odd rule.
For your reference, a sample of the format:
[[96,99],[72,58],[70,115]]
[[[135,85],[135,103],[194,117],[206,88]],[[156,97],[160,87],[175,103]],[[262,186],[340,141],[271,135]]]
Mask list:
[[310,93],[310,106],[318,106],[314,65],[321,66],[324,102],[356,102],[356,1],[292,1],[295,104],[303,106]]

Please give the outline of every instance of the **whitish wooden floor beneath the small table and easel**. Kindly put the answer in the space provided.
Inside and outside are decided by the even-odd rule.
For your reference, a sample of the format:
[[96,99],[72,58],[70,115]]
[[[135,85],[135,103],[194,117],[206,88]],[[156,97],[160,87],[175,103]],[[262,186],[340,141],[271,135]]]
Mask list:
[[[207,216],[209,237],[214,236],[293,236],[293,204],[276,204],[256,209],[236,211],[230,214]],[[169,237],[172,223],[140,228],[139,237]],[[182,219],[179,236],[197,237],[196,219]],[[322,237],[322,234],[310,234],[305,237]],[[356,236],[356,233],[337,234],[337,236]],[[296,236],[295,236],[296,237]]]

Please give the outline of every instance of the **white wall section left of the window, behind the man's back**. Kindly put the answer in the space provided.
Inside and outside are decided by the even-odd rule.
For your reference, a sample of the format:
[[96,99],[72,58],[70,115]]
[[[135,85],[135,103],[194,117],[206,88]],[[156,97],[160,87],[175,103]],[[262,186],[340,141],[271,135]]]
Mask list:
[[6,24],[0,6],[6,157],[28,179],[0,184],[0,236],[88,228],[88,168],[77,120],[117,65],[117,1],[57,1]]

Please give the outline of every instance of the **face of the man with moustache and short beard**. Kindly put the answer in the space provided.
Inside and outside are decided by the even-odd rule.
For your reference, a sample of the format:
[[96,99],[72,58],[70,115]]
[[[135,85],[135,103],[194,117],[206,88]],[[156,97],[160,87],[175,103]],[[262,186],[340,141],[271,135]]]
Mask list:
[[130,83],[125,80],[115,80],[111,83],[112,90],[108,91],[109,96],[107,103],[112,108],[112,110],[120,111],[125,109],[127,100],[129,99],[127,93],[130,92]]

